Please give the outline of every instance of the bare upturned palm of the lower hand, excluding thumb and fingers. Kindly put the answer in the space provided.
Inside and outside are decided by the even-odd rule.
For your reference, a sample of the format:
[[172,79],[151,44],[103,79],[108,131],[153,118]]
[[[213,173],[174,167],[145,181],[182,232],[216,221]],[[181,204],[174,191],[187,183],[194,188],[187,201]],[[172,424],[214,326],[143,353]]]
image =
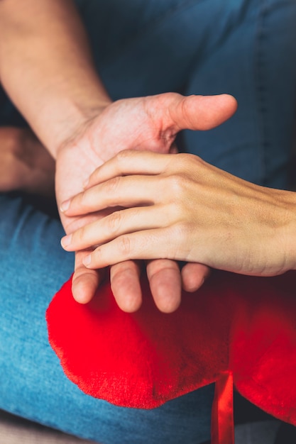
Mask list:
[[[114,102],[97,118],[87,122],[83,131],[60,150],[57,157],[57,204],[82,191],[89,174],[121,150],[170,151],[177,131],[173,133],[164,118],[162,121],[155,118],[153,109],[157,102],[155,97],[148,99]],[[70,221],[61,216],[67,231]]]

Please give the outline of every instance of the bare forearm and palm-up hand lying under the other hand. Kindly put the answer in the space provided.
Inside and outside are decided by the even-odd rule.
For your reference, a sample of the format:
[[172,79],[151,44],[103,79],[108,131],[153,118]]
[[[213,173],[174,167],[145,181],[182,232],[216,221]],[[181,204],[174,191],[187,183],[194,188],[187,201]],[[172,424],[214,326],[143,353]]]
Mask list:
[[[112,103],[94,70],[87,35],[70,0],[0,1],[0,80],[56,162],[58,206],[82,192],[89,174],[117,152],[174,152],[175,135],[182,128],[213,128],[236,110],[236,101],[226,95],[160,94]],[[66,233],[101,217],[60,214]],[[86,255],[82,250],[75,254],[72,292],[81,303],[92,299],[104,277],[104,271],[84,266]],[[207,272],[204,265],[188,264],[182,282],[176,262],[155,260],[147,265],[151,291],[163,311],[176,308],[182,283],[197,289]],[[139,273],[133,261],[111,267],[112,290],[126,311],[141,304]]]

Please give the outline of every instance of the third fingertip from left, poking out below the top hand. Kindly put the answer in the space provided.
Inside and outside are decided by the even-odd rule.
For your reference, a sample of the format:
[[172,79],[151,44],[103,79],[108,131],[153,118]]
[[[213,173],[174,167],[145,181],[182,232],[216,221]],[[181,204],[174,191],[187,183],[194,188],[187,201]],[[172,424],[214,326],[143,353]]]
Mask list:
[[147,276],[158,309],[164,313],[177,310],[182,291],[177,262],[168,259],[152,260],[147,265]]

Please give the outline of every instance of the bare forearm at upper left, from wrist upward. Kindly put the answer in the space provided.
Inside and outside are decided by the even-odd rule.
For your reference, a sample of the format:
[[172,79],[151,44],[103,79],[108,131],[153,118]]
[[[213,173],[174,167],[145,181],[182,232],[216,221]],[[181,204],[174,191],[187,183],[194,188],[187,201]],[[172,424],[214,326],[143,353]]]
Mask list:
[[109,102],[70,0],[0,1],[0,79],[54,157]]

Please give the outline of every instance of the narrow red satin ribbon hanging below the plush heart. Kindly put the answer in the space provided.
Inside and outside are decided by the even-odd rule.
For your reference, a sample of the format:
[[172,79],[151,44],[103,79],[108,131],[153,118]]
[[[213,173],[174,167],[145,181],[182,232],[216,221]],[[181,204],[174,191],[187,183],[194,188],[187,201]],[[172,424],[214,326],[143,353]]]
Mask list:
[[212,444],[234,444],[234,378],[231,372],[222,374],[216,381]]

